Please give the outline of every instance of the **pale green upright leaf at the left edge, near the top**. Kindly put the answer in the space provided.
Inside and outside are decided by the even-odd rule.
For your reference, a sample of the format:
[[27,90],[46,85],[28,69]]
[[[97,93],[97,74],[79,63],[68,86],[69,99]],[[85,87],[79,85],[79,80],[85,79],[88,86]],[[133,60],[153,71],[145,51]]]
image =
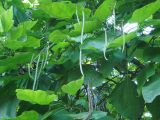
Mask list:
[[8,32],[13,26],[13,8],[0,13],[0,32]]

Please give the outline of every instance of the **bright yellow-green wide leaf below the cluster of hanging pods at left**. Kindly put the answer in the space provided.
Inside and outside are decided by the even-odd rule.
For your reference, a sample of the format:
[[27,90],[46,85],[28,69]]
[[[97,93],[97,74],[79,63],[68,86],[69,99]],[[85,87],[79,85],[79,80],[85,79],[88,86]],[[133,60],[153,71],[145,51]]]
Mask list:
[[55,94],[48,94],[42,90],[16,89],[16,95],[19,100],[28,101],[32,104],[49,105],[53,101],[57,101]]

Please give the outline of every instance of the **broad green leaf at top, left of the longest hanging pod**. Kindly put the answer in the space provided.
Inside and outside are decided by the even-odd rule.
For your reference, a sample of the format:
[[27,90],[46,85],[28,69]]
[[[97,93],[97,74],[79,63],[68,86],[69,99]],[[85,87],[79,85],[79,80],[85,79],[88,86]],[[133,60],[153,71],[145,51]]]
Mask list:
[[71,19],[76,11],[75,4],[71,2],[52,2],[42,4],[39,8],[45,11],[50,17],[58,19]]

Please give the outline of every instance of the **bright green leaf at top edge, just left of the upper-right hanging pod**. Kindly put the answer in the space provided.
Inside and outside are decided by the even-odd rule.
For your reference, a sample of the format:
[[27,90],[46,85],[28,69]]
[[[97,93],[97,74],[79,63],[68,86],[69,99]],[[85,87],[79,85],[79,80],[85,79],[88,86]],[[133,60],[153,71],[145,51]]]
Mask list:
[[95,11],[93,18],[104,21],[111,15],[115,6],[115,0],[105,0]]

